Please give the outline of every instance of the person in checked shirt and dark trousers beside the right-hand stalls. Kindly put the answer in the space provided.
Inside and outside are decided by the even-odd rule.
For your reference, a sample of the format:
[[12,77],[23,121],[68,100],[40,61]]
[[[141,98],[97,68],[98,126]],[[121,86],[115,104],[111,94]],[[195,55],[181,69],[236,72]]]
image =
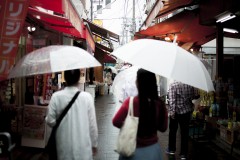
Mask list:
[[194,108],[192,100],[198,97],[197,90],[192,86],[178,81],[170,84],[168,90],[170,122],[167,154],[175,154],[176,134],[179,124],[181,131],[180,157],[181,159],[187,159],[189,123]]

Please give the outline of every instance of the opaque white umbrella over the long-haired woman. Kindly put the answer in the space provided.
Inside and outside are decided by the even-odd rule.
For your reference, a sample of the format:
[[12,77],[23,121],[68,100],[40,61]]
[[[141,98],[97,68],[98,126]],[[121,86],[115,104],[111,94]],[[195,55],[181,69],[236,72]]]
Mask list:
[[212,80],[203,63],[174,43],[139,39],[116,49],[112,54],[166,78],[205,91],[214,91]]

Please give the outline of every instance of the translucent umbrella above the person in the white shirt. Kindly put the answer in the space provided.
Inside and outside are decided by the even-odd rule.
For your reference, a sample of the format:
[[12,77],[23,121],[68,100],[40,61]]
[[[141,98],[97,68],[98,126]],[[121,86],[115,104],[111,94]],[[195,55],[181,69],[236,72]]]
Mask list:
[[87,51],[74,46],[52,45],[37,49],[12,68],[8,78],[101,66]]

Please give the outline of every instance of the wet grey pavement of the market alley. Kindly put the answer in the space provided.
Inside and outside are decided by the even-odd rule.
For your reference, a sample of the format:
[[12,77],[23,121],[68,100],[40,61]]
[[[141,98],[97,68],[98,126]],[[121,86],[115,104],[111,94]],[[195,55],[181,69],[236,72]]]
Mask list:
[[[118,129],[112,125],[112,117],[116,111],[117,103],[113,94],[96,97],[96,116],[99,130],[98,153],[94,160],[117,160],[118,154],[114,151]],[[177,136],[179,146],[179,134]],[[159,143],[164,160],[178,160],[179,147],[175,156],[165,154],[168,144],[168,131],[159,133]],[[230,152],[219,148],[212,142],[196,142],[189,138],[189,157],[192,160],[230,160]],[[42,149],[17,146],[12,152],[13,160],[39,160],[42,157]],[[239,158],[232,158],[237,160]],[[44,158],[42,159],[44,160]]]

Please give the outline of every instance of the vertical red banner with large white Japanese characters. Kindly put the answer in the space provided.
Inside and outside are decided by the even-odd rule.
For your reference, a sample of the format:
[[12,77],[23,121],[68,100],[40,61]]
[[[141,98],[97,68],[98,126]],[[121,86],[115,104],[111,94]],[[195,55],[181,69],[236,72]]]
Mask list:
[[14,64],[29,0],[0,0],[0,81]]

